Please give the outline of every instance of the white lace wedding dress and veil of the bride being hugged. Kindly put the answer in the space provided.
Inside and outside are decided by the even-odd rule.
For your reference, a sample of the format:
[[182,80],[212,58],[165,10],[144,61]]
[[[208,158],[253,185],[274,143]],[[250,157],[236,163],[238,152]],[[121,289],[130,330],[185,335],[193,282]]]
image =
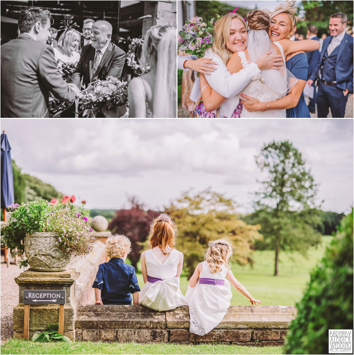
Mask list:
[[[280,70],[262,70],[260,75],[256,75],[252,78],[250,83],[241,92],[242,94],[254,97],[260,102],[271,102],[280,99],[285,96],[289,90],[289,77],[292,76],[290,72],[286,70],[284,51],[279,43],[275,43],[282,54],[284,67]],[[255,62],[262,53],[271,50],[271,55],[276,55],[276,50],[271,40],[269,39],[268,33],[264,30],[255,31],[250,30],[247,37],[247,51],[249,59]],[[246,59],[244,51],[237,52],[241,59],[242,67],[248,66],[249,61]],[[241,94],[240,93],[240,94]],[[238,94],[237,96],[243,100],[243,98]],[[242,109],[241,118],[286,118],[286,110],[269,110],[269,111],[254,111],[249,112],[245,108]]]

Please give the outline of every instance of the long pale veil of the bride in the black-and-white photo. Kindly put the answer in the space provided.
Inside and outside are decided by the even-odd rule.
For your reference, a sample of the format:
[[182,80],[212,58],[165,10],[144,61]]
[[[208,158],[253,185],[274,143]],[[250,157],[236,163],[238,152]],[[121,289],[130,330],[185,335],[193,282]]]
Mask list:
[[154,117],[176,118],[176,29],[168,29],[157,46]]

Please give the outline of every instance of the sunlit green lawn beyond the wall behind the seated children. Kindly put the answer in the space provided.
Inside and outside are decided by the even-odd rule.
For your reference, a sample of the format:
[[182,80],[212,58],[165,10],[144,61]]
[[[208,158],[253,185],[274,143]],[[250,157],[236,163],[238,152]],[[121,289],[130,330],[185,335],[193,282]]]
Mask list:
[[[326,245],[332,240],[332,236],[322,236],[322,243],[316,247],[310,247],[308,259],[299,253],[287,255],[280,253],[279,275],[273,276],[274,252],[269,250],[257,250],[254,252],[254,268],[250,265],[239,266],[233,264],[232,272],[236,279],[249,291],[262,306],[295,306],[302,297],[306,283],[309,281],[311,269],[319,262],[325,252]],[[178,246],[177,246],[178,249]],[[138,264],[140,270],[140,263]],[[140,288],[144,285],[143,275],[137,273]],[[188,280],[185,276],[180,278],[181,291],[186,294]],[[232,306],[250,306],[249,300],[231,286]]]

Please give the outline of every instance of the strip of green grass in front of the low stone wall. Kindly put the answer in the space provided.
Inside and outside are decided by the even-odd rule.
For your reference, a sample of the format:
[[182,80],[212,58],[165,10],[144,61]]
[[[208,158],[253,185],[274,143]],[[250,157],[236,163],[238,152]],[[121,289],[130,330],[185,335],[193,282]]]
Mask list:
[[138,343],[34,343],[9,340],[1,345],[1,354],[283,354],[282,346],[177,345]]

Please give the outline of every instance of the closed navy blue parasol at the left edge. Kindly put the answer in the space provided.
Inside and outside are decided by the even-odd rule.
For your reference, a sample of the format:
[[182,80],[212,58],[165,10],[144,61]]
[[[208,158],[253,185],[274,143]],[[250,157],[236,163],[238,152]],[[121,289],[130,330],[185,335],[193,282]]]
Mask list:
[[11,147],[5,131],[1,135],[1,208],[15,202],[13,196],[13,176],[12,176],[12,161]]

